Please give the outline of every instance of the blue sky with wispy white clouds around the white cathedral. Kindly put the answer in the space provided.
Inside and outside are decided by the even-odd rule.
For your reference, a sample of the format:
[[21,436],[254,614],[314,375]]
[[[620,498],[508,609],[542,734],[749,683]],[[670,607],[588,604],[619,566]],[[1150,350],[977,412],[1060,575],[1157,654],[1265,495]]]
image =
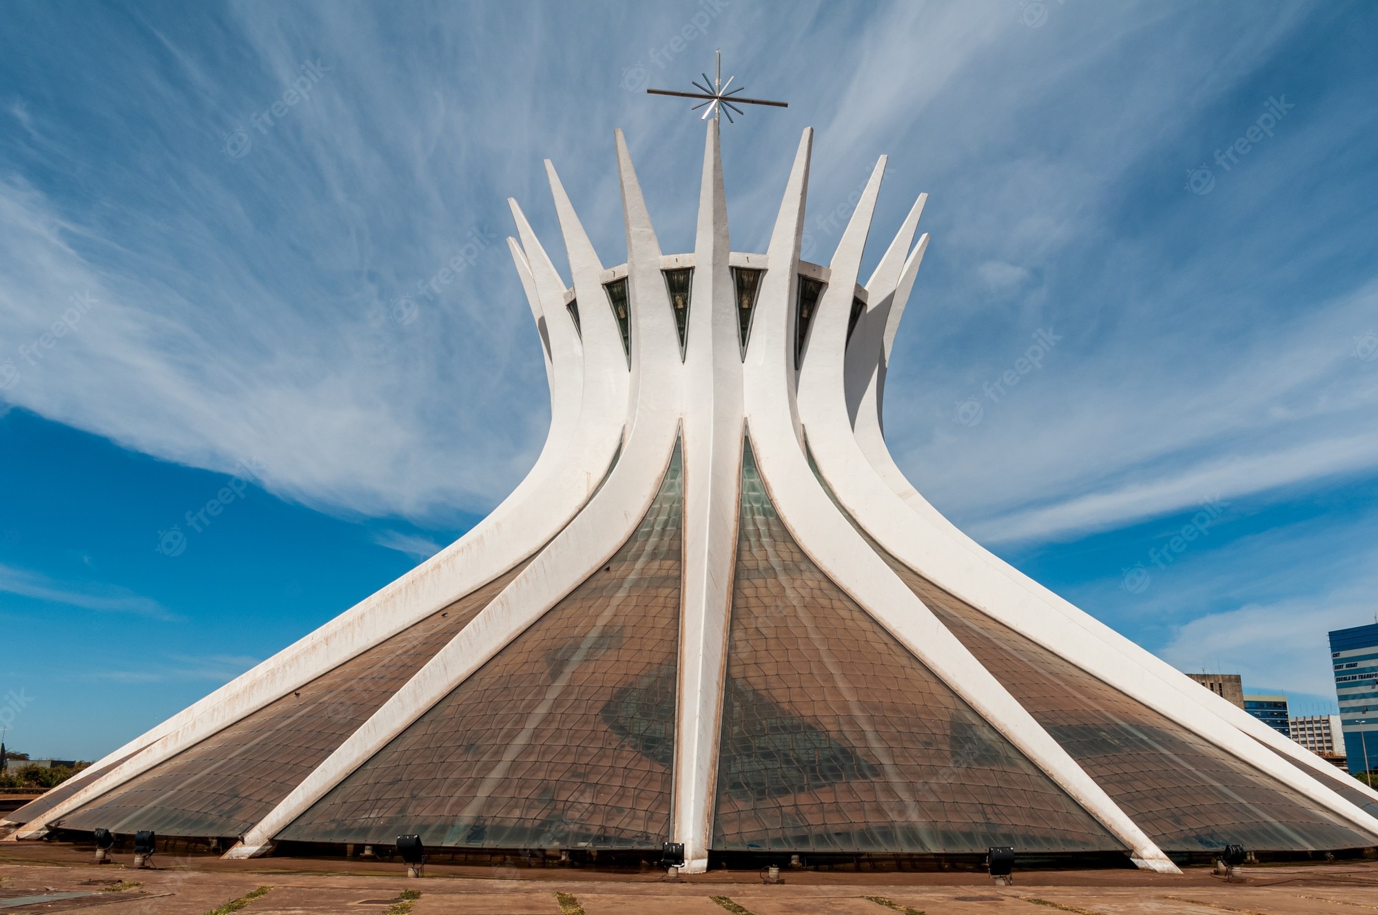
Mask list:
[[810,259],[881,153],[871,263],[930,193],[886,427],[934,504],[1301,711],[1334,701],[1326,631],[1378,610],[1371,4],[8,3],[6,25],[18,750],[106,752],[521,480],[548,412],[504,198],[558,259],[554,158],[624,259],[621,127],[664,249],[692,248],[701,124],[642,90],[715,47],[790,102],[725,125],[734,248],[763,249],[808,125]]

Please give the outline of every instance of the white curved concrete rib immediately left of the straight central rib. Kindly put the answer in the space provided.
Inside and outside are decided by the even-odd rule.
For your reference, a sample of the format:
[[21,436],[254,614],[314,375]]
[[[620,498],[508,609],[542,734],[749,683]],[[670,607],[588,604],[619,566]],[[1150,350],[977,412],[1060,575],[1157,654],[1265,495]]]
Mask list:
[[[631,287],[633,378],[627,438],[608,485],[531,564],[393,695],[325,762],[317,766],[225,857],[267,852],[273,836],[426,714],[484,663],[525,633],[621,548],[650,508],[679,431],[678,339],[660,281],[660,245],[646,214],[626,143],[617,135],[627,265]],[[537,274],[537,284],[540,277]],[[620,343],[619,343],[620,346]],[[670,354],[674,358],[668,358]]]

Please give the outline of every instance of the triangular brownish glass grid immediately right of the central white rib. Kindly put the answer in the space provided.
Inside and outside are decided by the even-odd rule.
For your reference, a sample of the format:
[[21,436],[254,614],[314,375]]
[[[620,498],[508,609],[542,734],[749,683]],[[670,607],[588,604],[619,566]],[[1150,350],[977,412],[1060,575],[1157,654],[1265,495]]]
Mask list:
[[1123,850],[828,580],[747,445],[712,847]]

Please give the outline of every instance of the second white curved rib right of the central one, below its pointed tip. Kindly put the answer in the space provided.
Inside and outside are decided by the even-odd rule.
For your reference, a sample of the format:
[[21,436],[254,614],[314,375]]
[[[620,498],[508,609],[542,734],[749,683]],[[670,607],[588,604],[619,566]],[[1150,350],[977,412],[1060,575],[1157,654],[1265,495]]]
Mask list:
[[[916,269],[916,262],[914,266]],[[835,269],[835,281],[836,277]],[[912,282],[912,277],[907,278]],[[898,300],[898,295],[896,299]],[[908,486],[907,481],[904,485],[908,497],[897,495],[892,480],[893,475],[898,475],[898,470],[894,469],[890,478],[878,473],[874,467],[876,462],[870,460],[872,455],[863,451],[861,434],[854,435],[849,424],[846,402],[841,393],[846,318],[847,305],[842,302],[842,295],[828,298],[825,294],[814,317],[813,332],[817,342],[801,378],[799,409],[819,471],[867,533],[892,555],[938,587],[1028,635],[1082,670],[1167,715],[1361,830],[1378,835],[1378,819],[1253,740],[1251,734],[1255,730],[1271,732],[1261,722],[1222,699],[1211,696],[1209,690],[1200,689],[1151,652],[1094,621],[1067,601],[1061,598],[1050,601],[1049,597],[1056,597],[1051,591],[1031,579],[1024,579],[1011,566],[976,544],[943,518],[912,486]],[[883,364],[883,354],[879,361]],[[881,441],[883,448],[883,440]],[[883,453],[882,463],[894,467],[889,452]],[[903,480],[903,475],[900,478]],[[916,502],[922,504],[922,511],[916,510]],[[1024,579],[1028,584],[1021,587],[1018,579]],[[1236,718],[1248,718],[1247,723],[1255,726],[1246,729],[1236,725],[1210,708],[1210,703],[1193,701],[1196,697],[1191,695],[1192,692],[1217,700],[1214,703],[1217,706],[1228,706],[1239,712]],[[1275,732],[1272,736],[1277,737],[1275,743],[1288,743]],[[1299,747],[1297,751],[1306,752]],[[1295,758],[1297,754],[1288,755]],[[1317,762],[1328,765],[1319,759]]]

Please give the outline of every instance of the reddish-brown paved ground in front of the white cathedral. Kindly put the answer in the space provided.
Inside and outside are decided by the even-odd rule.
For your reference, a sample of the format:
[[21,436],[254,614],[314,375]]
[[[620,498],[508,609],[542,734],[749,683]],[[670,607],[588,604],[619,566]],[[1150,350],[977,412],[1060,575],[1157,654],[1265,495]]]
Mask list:
[[[655,872],[430,867],[423,879],[409,881],[402,865],[382,863],[306,859],[232,863],[158,854],[156,870],[135,871],[127,854],[117,859],[116,864],[96,867],[88,863],[88,853],[68,846],[6,843],[0,846],[0,915],[87,909],[91,915],[203,915],[260,886],[273,889],[234,911],[244,915],[1378,912],[1378,861],[1248,868],[1246,885],[1225,883],[1209,870],[1193,868],[1182,876],[1135,871],[1025,872],[1016,875],[1014,886],[998,887],[989,878],[973,874],[805,871],[785,872],[783,886],[763,886],[755,874],[747,872],[671,881]],[[409,909],[397,905],[402,890],[420,892]]]

